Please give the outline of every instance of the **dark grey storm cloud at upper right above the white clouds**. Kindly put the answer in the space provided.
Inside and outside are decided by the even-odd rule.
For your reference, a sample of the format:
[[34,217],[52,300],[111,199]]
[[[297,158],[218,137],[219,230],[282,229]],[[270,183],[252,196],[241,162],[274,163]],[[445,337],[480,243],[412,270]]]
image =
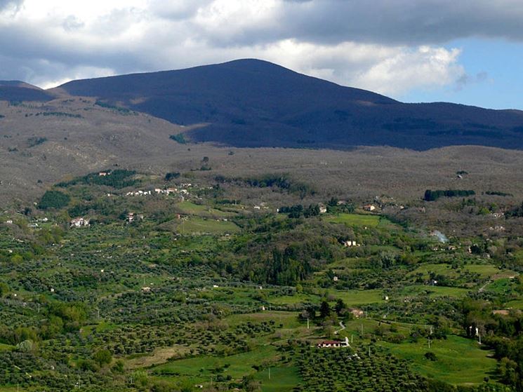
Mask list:
[[300,39],[393,45],[440,44],[470,36],[523,40],[520,0],[286,0],[270,29],[252,25],[232,35],[214,31],[220,45]]

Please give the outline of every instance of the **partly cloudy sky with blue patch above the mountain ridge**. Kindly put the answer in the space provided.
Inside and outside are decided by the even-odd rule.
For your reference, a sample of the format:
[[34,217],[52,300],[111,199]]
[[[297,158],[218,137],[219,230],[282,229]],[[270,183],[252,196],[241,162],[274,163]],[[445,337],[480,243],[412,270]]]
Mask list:
[[404,102],[523,109],[521,0],[0,0],[0,80],[258,58]]

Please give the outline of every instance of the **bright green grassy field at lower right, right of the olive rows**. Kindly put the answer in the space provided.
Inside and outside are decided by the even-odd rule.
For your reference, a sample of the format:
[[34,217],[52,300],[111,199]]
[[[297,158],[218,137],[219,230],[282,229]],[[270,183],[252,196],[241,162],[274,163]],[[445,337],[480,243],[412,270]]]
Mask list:
[[[494,374],[496,360],[491,351],[482,350],[471,339],[450,335],[444,340],[419,339],[416,343],[392,344],[380,342],[395,355],[411,361],[411,367],[425,377],[439,379],[454,385],[482,384],[485,374]],[[435,353],[437,360],[425,358],[425,353]]]

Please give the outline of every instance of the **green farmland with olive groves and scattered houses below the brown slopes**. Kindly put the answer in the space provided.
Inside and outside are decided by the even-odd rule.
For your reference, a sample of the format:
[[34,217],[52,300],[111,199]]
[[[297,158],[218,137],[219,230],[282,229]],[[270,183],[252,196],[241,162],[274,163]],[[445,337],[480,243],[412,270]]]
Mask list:
[[2,212],[0,391],[517,390],[517,238],[118,173]]

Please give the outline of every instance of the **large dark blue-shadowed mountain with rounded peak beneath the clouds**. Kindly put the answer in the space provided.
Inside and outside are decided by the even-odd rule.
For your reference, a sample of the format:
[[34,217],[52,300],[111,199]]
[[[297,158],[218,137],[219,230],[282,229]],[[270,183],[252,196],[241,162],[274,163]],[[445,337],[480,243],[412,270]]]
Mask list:
[[408,104],[261,60],[71,81],[60,90],[172,123],[205,123],[187,133],[196,142],[237,147],[523,148],[523,111]]

